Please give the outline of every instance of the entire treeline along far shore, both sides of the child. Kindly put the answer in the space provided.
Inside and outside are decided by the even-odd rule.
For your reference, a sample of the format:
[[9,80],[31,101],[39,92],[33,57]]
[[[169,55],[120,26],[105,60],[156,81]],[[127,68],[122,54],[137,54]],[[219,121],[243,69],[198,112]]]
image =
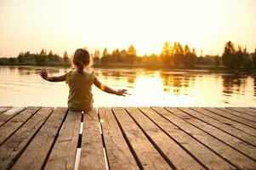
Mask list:
[[[138,56],[134,45],[127,49],[113,49],[111,52],[105,48],[92,54],[95,66],[142,66],[147,68],[213,68],[256,70],[256,49],[249,54],[247,48],[240,45],[235,47],[233,42],[226,42],[222,55],[197,56],[196,49],[180,42],[164,42],[161,54]],[[16,58],[0,58],[0,65],[70,65],[68,54],[62,57],[52,51],[42,49],[39,54],[30,52],[20,53]]]

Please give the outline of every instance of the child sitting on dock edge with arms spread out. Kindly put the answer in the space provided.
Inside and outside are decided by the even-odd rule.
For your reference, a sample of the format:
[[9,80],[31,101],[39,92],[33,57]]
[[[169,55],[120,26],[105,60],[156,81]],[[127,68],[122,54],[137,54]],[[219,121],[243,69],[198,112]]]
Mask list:
[[91,111],[93,108],[92,85],[109,94],[125,96],[126,89],[113,90],[103,85],[95,76],[94,72],[86,71],[90,64],[88,51],[82,48],[76,50],[73,58],[73,64],[77,69],[67,72],[60,77],[48,77],[45,69],[40,71],[40,76],[48,82],[66,82],[70,88],[68,96],[68,107],[71,111]]

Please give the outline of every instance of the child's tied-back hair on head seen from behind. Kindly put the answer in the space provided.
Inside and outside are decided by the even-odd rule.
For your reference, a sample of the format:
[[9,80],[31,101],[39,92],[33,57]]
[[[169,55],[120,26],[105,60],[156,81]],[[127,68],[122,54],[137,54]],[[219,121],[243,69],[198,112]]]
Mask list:
[[84,65],[90,65],[90,54],[86,49],[78,48],[73,56],[73,64],[76,65],[77,70],[82,72]]

